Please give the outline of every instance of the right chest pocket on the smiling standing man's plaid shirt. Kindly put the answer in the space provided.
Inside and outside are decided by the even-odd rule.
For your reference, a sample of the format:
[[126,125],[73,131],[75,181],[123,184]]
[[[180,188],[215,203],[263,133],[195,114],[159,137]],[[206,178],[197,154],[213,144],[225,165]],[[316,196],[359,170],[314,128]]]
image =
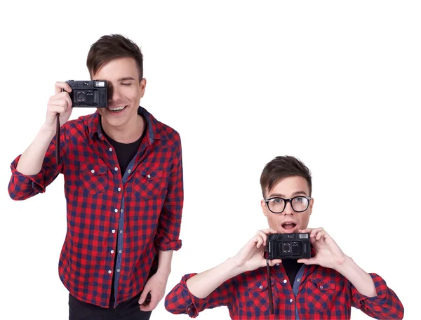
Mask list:
[[159,168],[138,168],[133,189],[136,196],[147,199],[161,191],[162,170]]

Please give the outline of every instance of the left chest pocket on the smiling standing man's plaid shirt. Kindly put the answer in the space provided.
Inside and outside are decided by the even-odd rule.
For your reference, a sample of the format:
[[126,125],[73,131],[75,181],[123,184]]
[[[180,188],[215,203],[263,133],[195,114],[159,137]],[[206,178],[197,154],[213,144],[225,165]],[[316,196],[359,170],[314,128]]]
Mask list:
[[107,165],[81,162],[79,165],[81,187],[89,194],[107,190]]

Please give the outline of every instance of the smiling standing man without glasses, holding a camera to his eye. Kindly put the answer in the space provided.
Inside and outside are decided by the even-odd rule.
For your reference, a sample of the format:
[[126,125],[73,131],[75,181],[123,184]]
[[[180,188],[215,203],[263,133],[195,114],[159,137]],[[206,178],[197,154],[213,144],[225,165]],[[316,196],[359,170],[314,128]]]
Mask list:
[[44,125],[11,164],[8,192],[27,199],[64,175],[67,234],[58,269],[69,320],[149,319],[181,247],[180,135],[139,106],[146,79],[133,41],[102,36],[86,65],[92,79],[107,81],[107,107],[68,121],[72,88],[56,83]]

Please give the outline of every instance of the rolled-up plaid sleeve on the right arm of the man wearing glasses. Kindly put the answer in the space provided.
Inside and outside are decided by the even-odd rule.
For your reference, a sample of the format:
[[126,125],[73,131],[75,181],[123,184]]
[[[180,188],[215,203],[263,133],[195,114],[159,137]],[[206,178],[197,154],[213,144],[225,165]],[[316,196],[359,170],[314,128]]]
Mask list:
[[402,319],[403,305],[386,281],[378,274],[370,273],[377,296],[362,295],[352,286],[352,305],[375,319]]

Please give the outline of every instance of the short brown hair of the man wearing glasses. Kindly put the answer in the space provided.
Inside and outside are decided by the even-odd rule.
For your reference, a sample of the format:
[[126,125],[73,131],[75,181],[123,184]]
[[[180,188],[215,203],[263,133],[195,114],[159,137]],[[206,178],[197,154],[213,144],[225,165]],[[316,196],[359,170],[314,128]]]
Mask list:
[[312,173],[300,160],[293,156],[276,156],[266,164],[260,175],[260,186],[265,198],[265,190],[271,190],[279,180],[287,177],[299,176],[305,178],[309,185],[309,196],[312,196]]

